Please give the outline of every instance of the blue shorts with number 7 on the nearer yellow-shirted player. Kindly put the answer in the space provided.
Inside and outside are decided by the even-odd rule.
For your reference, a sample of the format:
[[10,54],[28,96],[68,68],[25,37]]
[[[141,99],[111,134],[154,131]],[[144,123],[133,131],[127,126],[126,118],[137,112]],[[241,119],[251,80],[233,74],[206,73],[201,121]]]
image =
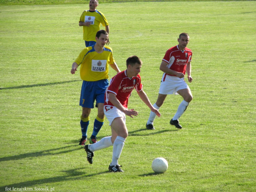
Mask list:
[[104,103],[104,96],[109,86],[109,80],[83,81],[80,96],[80,106],[85,108],[94,108],[94,102]]

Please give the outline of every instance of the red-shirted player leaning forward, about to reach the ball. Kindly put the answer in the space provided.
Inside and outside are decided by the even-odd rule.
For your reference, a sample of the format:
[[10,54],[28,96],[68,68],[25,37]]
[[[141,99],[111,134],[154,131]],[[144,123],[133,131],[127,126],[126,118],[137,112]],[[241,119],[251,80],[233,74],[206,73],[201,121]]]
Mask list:
[[126,60],[127,69],[118,73],[111,78],[109,87],[105,93],[104,114],[109,120],[112,135],[104,137],[100,141],[92,144],[85,145],[87,153],[87,160],[92,164],[94,152],[113,146],[112,162],[109,165],[109,171],[123,172],[118,164],[118,159],[123,150],[124,142],[128,136],[126,128],[126,115],[133,118],[137,116],[138,112],[134,109],[128,109],[128,98],[130,97],[133,89],[137,91],[141,100],[149,107],[149,109],[160,117],[159,111],[152,106],[146,93],[142,90],[140,68],[142,61],[137,56],[128,57]]

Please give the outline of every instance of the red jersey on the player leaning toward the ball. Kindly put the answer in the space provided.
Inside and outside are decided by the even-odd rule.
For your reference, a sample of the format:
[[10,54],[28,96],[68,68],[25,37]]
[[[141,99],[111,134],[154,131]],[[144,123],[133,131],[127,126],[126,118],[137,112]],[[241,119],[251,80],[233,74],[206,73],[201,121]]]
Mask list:
[[127,109],[128,99],[134,88],[137,92],[142,91],[139,74],[132,78],[127,77],[126,70],[116,74],[116,76],[111,78],[110,84],[106,90],[104,106],[114,106],[108,99],[108,93],[111,92],[116,95],[117,100]]

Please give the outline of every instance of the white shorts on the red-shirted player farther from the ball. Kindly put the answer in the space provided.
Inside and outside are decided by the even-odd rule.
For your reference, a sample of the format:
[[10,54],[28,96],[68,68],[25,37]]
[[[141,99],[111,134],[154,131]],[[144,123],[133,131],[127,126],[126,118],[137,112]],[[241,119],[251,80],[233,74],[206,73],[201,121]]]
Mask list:
[[163,95],[178,95],[177,91],[181,89],[189,89],[184,78],[166,75],[165,81],[161,81],[159,93]]

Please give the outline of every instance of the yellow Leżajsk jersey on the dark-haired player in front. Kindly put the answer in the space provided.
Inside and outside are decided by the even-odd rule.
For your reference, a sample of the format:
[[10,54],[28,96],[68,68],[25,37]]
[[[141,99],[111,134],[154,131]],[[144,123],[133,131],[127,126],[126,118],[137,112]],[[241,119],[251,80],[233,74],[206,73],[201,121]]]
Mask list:
[[84,81],[99,81],[109,78],[109,64],[114,64],[112,49],[104,46],[102,53],[92,47],[82,50],[75,62],[80,66],[80,76]]

